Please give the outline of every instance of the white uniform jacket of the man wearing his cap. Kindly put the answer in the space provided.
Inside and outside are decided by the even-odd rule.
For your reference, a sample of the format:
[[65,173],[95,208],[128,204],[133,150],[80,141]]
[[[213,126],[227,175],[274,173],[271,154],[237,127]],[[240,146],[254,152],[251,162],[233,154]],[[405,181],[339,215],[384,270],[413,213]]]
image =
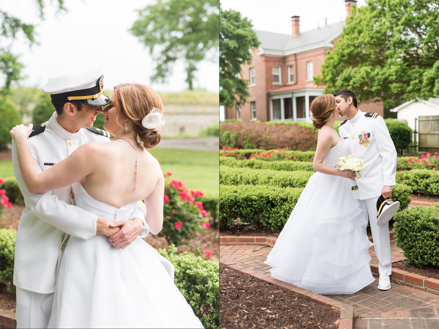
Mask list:
[[[54,115],[42,124],[46,126],[45,130],[28,139],[32,156],[41,171],[67,158],[81,145],[110,141],[87,129],[72,134],[60,126]],[[12,164],[26,206],[15,240],[14,285],[36,293],[53,293],[58,257],[62,256],[61,244],[70,235],[82,239],[96,235],[97,215],[74,206],[72,185],[44,194],[30,193],[22,178],[15,141],[12,141]],[[144,221],[140,205],[130,219],[134,217]],[[144,224],[141,237],[149,232],[148,224]]]

